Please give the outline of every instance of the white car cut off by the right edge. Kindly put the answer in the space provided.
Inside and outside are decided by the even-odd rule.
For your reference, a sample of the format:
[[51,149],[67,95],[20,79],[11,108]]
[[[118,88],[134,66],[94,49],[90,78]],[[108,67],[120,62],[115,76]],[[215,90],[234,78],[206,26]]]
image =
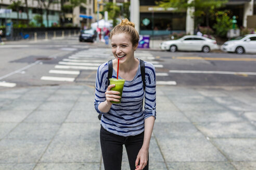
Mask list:
[[221,50],[238,54],[256,52],[256,34],[248,34],[226,41],[221,46]]

